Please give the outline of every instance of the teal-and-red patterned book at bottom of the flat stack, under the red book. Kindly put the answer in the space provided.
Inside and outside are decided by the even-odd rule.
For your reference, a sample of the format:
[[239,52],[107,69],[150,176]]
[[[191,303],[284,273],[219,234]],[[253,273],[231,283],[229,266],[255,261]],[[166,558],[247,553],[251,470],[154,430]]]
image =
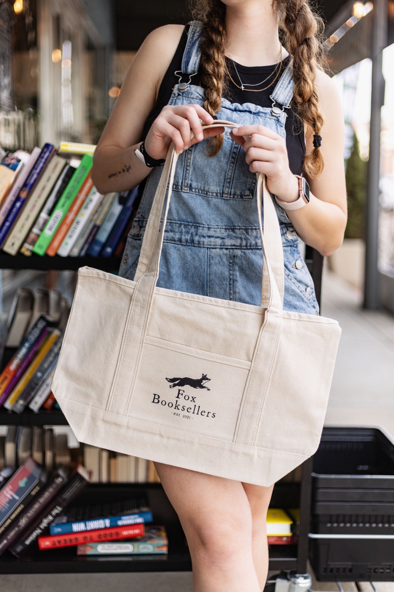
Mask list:
[[83,543],[77,555],[140,555],[167,554],[168,536],[164,526],[145,526],[145,535],[122,542]]

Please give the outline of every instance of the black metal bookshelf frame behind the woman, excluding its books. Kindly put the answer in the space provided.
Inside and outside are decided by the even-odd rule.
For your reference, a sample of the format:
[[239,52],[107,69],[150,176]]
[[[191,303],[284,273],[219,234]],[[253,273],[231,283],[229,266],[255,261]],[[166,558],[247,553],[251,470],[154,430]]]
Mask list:
[[[61,258],[59,256],[25,257],[0,253],[2,269],[40,269],[74,270],[89,265],[103,271],[118,271],[121,258]],[[314,280],[315,292],[320,304],[321,272],[323,257],[315,249],[306,246],[305,262]],[[7,356],[5,356],[6,359]],[[60,410],[45,409],[34,413],[31,410],[18,415],[0,409],[0,425],[67,425]],[[297,429],[297,426],[295,426]],[[312,458],[302,465],[301,482],[278,482],[272,493],[271,506],[300,509],[299,541],[297,545],[271,545],[269,551],[269,570],[295,570],[305,574],[308,560],[308,531],[311,505]],[[144,490],[154,514],[154,522],[165,525],[168,533],[167,556],[77,556],[73,547],[52,549],[51,551],[30,551],[21,559],[9,553],[0,556],[0,574],[58,574],[92,572],[142,572],[142,571],[191,571],[191,558],[185,545],[184,532],[177,513],[171,506],[160,483],[132,484],[90,484],[79,498],[81,503],[92,499],[100,502],[108,499],[121,499],[127,494]]]

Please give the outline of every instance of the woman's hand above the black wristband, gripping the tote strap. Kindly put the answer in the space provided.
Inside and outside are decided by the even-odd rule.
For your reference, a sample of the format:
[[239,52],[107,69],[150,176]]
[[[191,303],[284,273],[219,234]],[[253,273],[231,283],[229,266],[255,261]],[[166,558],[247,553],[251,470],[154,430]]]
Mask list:
[[[175,152],[181,154],[193,144],[223,133],[224,127],[203,130],[200,120],[207,125],[214,122],[214,118],[200,105],[165,105],[146,134],[146,152],[154,159],[161,159],[167,156],[171,141],[174,142]],[[193,140],[190,139],[191,131]]]

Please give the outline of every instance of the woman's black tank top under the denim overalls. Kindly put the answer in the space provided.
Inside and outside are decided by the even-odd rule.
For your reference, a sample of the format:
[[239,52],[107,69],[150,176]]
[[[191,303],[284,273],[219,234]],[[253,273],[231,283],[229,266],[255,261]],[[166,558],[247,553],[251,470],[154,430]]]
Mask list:
[[[145,139],[146,134],[149,131],[153,121],[157,118],[159,112],[162,108],[168,104],[172,94],[172,88],[174,88],[175,84],[179,82],[178,76],[175,75],[175,70],[181,70],[181,63],[182,63],[182,56],[186,47],[187,41],[187,31],[188,25],[185,26],[185,29],[182,33],[181,40],[178,44],[177,50],[172,58],[170,66],[168,66],[167,72],[162,79],[157,101],[154,105],[154,108],[149,113],[148,118],[146,120],[144,126],[144,132],[142,139]],[[282,72],[286,65],[288,64],[289,58],[286,58],[282,62]],[[275,70],[276,65],[271,66],[242,66],[235,63],[235,67],[237,72],[234,69],[232,60],[226,57],[226,65],[229,69],[230,76],[233,80],[238,84],[239,78],[237,76],[237,72],[239,73],[240,79],[242,80],[243,84],[257,84],[267,78],[269,75],[272,75],[273,70]],[[281,73],[282,73],[281,72]],[[278,76],[275,84],[279,81],[281,73]],[[200,85],[200,78],[203,74],[203,67],[201,66],[198,68],[198,72],[193,78],[191,79],[191,83],[194,85]],[[275,75],[274,75],[275,76]],[[184,81],[184,78],[182,79]],[[272,82],[272,76],[268,78],[266,84]],[[237,88],[231,81],[229,81],[227,88],[223,92],[223,97],[226,98],[228,101],[233,103],[253,103],[255,105],[259,105],[259,107],[271,107],[272,101],[269,98],[269,95],[272,94],[273,88],[275,88],[275,84],[270,86],[265,91],[261,92],[250,92],[242,91],[241,89]],[[239,83],[240,85],[240,83]],[[258,88],[258,87],[254,87]],[[304,159],[305,154],[305,139],[304,139],[304,131],[301,120],[294,112],[294,106],[288,110],[286,110],[288,117],[286,117],[285,122],[285,130],[286,130],[286,147],[287,153],[289,157],[289,167],[292,173],[295,175],[301,175],[302,169],[302,160]],[[142,183],[141,185],[144,185]],[[142,187],[141,187],[142,189]]]

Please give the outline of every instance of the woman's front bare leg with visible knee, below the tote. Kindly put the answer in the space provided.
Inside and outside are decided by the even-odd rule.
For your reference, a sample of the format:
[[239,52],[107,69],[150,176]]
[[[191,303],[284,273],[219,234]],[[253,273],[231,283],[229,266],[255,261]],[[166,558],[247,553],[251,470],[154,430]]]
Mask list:
[[242,483],[161,462],[155,466],[187,538],[194,592],[260,592]]

